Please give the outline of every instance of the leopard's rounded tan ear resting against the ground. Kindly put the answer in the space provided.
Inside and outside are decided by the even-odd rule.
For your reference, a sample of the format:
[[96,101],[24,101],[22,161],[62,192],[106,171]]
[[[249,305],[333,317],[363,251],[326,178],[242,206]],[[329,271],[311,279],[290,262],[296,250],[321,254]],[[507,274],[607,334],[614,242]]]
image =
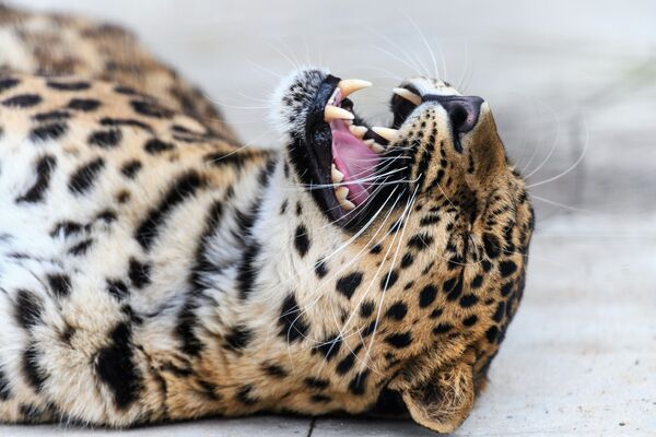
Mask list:
[[401,391],[414,422],[437,433],[452,433],[467,418],[476,390],[473,361],[462,358]]

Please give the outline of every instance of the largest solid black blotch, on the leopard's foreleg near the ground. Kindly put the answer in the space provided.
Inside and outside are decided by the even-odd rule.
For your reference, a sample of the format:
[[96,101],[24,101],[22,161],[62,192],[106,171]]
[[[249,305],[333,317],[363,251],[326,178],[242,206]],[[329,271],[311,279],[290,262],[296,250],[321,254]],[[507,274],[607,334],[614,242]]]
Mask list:
[[114,394],[119,410],[127,409],[138,399],[143,382],[134,363],[130,327],[126,322],[118,323],[109,333],[109,344],[98,351],[95,369]]

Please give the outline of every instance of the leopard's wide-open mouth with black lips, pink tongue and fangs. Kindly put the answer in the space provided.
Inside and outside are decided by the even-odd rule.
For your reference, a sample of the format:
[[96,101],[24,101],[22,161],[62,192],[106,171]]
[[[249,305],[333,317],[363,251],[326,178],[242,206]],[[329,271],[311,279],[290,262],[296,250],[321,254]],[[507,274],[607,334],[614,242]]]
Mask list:
[[[370,127],[348,97],[370,85],[328,75],[307,108],[303,154],[312,173],[311,192],[335,223],[349,228],[368,220],[393,187],[407,180],[401,152],[389,146],[398,131]],[[410,111],[394,102],[394,126],[398,127]]]

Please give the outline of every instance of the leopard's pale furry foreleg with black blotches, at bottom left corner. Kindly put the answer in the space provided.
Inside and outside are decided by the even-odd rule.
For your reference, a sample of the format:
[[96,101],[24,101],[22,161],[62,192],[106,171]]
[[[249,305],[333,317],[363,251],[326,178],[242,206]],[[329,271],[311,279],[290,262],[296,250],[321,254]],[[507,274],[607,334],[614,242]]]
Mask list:
[[0,257],[0,422],[164,418],[165,390],[129,305],[104,292],[104,281],[14,257]]

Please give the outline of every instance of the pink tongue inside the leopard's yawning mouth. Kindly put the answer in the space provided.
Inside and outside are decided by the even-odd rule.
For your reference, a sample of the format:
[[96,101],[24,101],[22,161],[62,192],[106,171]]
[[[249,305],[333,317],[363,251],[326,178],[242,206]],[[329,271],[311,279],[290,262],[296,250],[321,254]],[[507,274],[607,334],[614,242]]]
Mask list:
[[340,125],[331,126],[332,160],[337,169],[344,174],[343,184],[349,189],[349,200],[359,205],[370,194],[370,184],[379,157],[353,137],[343,123]]

